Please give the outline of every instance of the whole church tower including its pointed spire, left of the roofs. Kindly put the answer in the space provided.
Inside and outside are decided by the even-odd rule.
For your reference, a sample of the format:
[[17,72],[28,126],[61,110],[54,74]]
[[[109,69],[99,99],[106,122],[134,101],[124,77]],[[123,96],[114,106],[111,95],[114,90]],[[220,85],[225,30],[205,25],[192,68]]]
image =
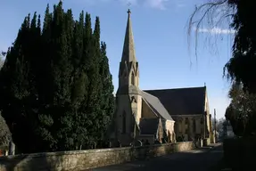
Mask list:
[[134,37],[128,10],[128,22],[119,70],[119,88],[116,94],[115,136],[122,145],[132,142],[139,132],[142,97],[139,69],[136,61]]

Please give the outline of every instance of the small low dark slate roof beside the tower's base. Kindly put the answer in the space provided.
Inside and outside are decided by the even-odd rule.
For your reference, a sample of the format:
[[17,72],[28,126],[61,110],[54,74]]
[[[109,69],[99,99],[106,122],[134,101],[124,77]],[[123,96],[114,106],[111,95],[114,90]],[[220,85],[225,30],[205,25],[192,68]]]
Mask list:
[[140,134],[156,134],[159,122],[159,118],[141,118],[139,122]]

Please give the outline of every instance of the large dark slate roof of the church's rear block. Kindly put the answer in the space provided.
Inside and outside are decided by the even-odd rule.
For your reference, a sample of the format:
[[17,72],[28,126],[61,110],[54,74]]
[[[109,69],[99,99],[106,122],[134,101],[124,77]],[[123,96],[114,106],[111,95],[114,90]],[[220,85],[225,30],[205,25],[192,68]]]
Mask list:
[[170,115],[193,115],[204,112],[206,86],[144,92],[157,97]]

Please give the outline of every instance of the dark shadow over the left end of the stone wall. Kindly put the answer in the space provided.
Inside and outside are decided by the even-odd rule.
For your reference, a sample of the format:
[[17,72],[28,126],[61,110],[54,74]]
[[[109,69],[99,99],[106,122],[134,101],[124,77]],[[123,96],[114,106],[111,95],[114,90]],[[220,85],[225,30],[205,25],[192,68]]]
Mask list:
[[[61,167],[63,159],[58,156],[47,153],[38,153],[31,155],[6,156],[0,158],[0,171],[45,171],[52,170],[53,167]],[[62,170],[62,168],[60,169]]]

